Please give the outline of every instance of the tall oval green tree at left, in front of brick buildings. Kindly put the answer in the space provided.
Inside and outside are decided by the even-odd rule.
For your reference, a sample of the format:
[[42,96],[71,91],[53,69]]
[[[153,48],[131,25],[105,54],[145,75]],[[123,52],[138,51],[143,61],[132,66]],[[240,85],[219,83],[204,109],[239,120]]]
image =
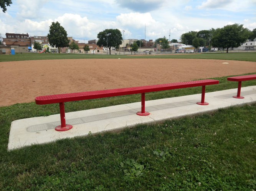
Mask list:
[[49,34],[47,34],[47,37],[49,39],[49,43],[51,46],[55,46],[58,48],[60,53],[61,47],[67,47],[68,46],[68,37],[67,37],[67,31],[59,24],[58,21],[52,22],[49,30]]

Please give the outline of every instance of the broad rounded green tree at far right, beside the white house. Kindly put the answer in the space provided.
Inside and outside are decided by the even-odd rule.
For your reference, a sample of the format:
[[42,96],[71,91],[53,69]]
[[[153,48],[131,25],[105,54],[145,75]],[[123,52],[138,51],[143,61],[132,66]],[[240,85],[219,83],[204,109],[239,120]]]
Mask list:
[[230,47],[239,47],[247,39],[248,29],[243,28],[243,24],[236,23],[216,29],[212,39],[212,45],[226,48],[226,53],[228,53]]

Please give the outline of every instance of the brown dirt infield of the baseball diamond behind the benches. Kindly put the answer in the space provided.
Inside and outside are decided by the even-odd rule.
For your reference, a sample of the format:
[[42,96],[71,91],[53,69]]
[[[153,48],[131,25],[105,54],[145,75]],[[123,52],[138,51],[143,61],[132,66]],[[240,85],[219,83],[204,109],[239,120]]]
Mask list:
[[163,84],[255,71],[255,62],[234,60],[135,58],[0,62],[0,106],[32,102],[39,95]]

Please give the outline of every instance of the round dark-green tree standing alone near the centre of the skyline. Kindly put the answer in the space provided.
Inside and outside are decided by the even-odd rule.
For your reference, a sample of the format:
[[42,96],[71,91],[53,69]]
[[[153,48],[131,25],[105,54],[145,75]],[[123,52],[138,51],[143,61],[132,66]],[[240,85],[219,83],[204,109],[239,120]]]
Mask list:
[[119,29],[105,29],[97,34],[99,47],[107,47],[111,54],[111,47],[119,47],[122,44],[122,33]]

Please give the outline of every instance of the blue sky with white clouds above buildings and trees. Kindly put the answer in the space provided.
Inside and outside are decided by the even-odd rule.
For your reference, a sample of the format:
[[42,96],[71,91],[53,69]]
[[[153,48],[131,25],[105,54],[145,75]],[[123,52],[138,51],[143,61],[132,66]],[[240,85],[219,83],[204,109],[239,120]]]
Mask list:
[[85,43],[105,29],[119,29],[124,39],[179,40],[234,23],[252,31],[256,0],[12,0],[6,13],[0,10],[0,33],[46,36],[56,21]]

